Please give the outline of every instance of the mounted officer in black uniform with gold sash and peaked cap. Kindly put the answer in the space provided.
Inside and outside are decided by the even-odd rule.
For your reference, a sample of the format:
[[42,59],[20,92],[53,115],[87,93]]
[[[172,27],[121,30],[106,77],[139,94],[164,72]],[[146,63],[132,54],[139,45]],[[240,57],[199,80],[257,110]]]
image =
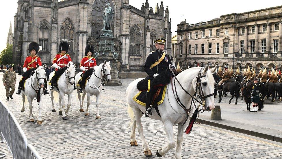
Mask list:
[[[160,86],[162,86],[164,84],[165,85],[168,84],[168,82],[162,83],[163,81],[168,81],[168,80],[163,80],[160,76],[159,77],[157,76],[161,72],[168,71],[169,65],[172,64],[172,62],[170,60],[169,55],[163,52],[166,39],[160,38],[155,40],[154,43],[157,50],[149,53],[144,65],[144,71],[149,75],[150,83],[152,83],[153,79],[155,78],[154,80],[157,81],[157,83],[160,83]],[[153,95],[157,92],[158,89],[158,87],[153,87],[152,84],[150,84],[150,86],[151,87],[146,92],[145,116],[153,116],[151,103],[152,103]]]

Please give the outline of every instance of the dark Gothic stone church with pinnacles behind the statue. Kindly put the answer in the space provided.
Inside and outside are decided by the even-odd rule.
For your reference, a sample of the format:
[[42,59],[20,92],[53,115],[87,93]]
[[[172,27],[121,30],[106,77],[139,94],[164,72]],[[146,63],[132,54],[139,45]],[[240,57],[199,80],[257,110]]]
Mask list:
[[61,41],[70,44],[69,54],[76,63],[84,57],[87,44],[99,51],[106,3],[115,12],[112,28],[119,70],[143,71],[146,57],[155,50],[153,41],[160,36],[169,39],[165,49],[171,54],[171,20],[162,2],[153,10],[148,0],[141,9],[129,5],[129,0],[19,0],[14,16],[15,63],[23,63],[32,41],[42,46],[38,55],[47,64],[52,63]]

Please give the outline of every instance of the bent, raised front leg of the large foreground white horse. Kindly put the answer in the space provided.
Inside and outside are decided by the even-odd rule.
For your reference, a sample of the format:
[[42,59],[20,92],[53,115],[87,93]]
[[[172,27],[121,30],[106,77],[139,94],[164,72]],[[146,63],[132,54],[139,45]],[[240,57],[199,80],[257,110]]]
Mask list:
[[[162,148],[157,150],[157,156],[162,157],[164,156],[168,150],[173,149],[175,146],[175,141],[173,137],[173,124],[170,121],[164,122],[164,129],[166,131],[166,135],[168,137],[168,144]],[[183,133],[183,131],[182,131]]]

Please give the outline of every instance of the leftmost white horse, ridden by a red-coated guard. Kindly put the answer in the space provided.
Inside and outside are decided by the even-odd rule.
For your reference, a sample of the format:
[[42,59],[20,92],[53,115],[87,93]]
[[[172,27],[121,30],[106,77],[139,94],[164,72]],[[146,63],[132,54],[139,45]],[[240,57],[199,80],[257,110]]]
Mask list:
[[[27,96],[27,101],[29,103],[29,121],[34,122],[33,114],[32,114],[32,101],[33,98],[39,98],[38,108],[39,108],[39,117],[37,119],[37,124],[42,124],[42,94],[44,87],[44,79],[45,79],[45,67],[36,65],[36,70],[33,75],[31,75],[25,81],[25,89],[22,91],[21,96],[23,98],[23,107],[21,112],[25,112],[25,96]],[[40,91],[40,92],[38,92]]]

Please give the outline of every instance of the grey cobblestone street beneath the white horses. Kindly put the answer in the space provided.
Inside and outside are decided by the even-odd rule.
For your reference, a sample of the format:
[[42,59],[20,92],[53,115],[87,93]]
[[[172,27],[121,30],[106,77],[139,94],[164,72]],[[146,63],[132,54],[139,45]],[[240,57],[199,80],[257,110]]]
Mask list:
[[[0,78],[3,73],[0,73]],[[18,76],[18,80],[20,76]],[[102,93],[99,113],[101,119],[96,119],[96,97],[92,96],[90,116],[79,112],[79,100],[76,91],[73,92],[72,105],[66,114],[68,119],[62,120],[59,115],[58,101],[55,101],[57,112],[52,113],[51,99],[43,97],[43,124],[29,122],[29,108],[26,103],[25,112],[21,96],[14,94],[14,99],[6,100],[5,87],[0,86],[0,100],[8,106],[31,143],[42,158],[147,158],[144,156],[140,135],[136,130],[137,147],[130,146],[129,117],[125,90],[134,79],[121,80],[123,86],[107,87]],[[18,87],[18,81],[16,89]],[[230,95],[229,95],[230,97]],[[218,98],[216,98],[218,100]],[[227,103],[227,98],[222,103]],[[65,96],[67,102],[67,96]],[[233,99],[233,103],[235,100]],[[238,102],[244,103],[243,100]],[[86,109],[86,101],[84,101]],[[38,104],[33,102],[34,119],[38,118]],[[204,115],[207,115],[203,113]],[[150,158],[158,158],[156,151],[167,143],[167,137],[161,121],[142,118],[144,136],[152,151]],[[177,126],[174,127],[175,140]],[[5,149],[3,143],[0,151]],[[175,149],[166,154],[166,158],[175,158]],[[7,151],[6,151],[7,152]],[[184,134],[182,144],[183,158],[282,158],[282,144],[268,140],[250,137],[206,125],[194,125],[190,135]],[[6,158],[9,158],[7,156]]]

